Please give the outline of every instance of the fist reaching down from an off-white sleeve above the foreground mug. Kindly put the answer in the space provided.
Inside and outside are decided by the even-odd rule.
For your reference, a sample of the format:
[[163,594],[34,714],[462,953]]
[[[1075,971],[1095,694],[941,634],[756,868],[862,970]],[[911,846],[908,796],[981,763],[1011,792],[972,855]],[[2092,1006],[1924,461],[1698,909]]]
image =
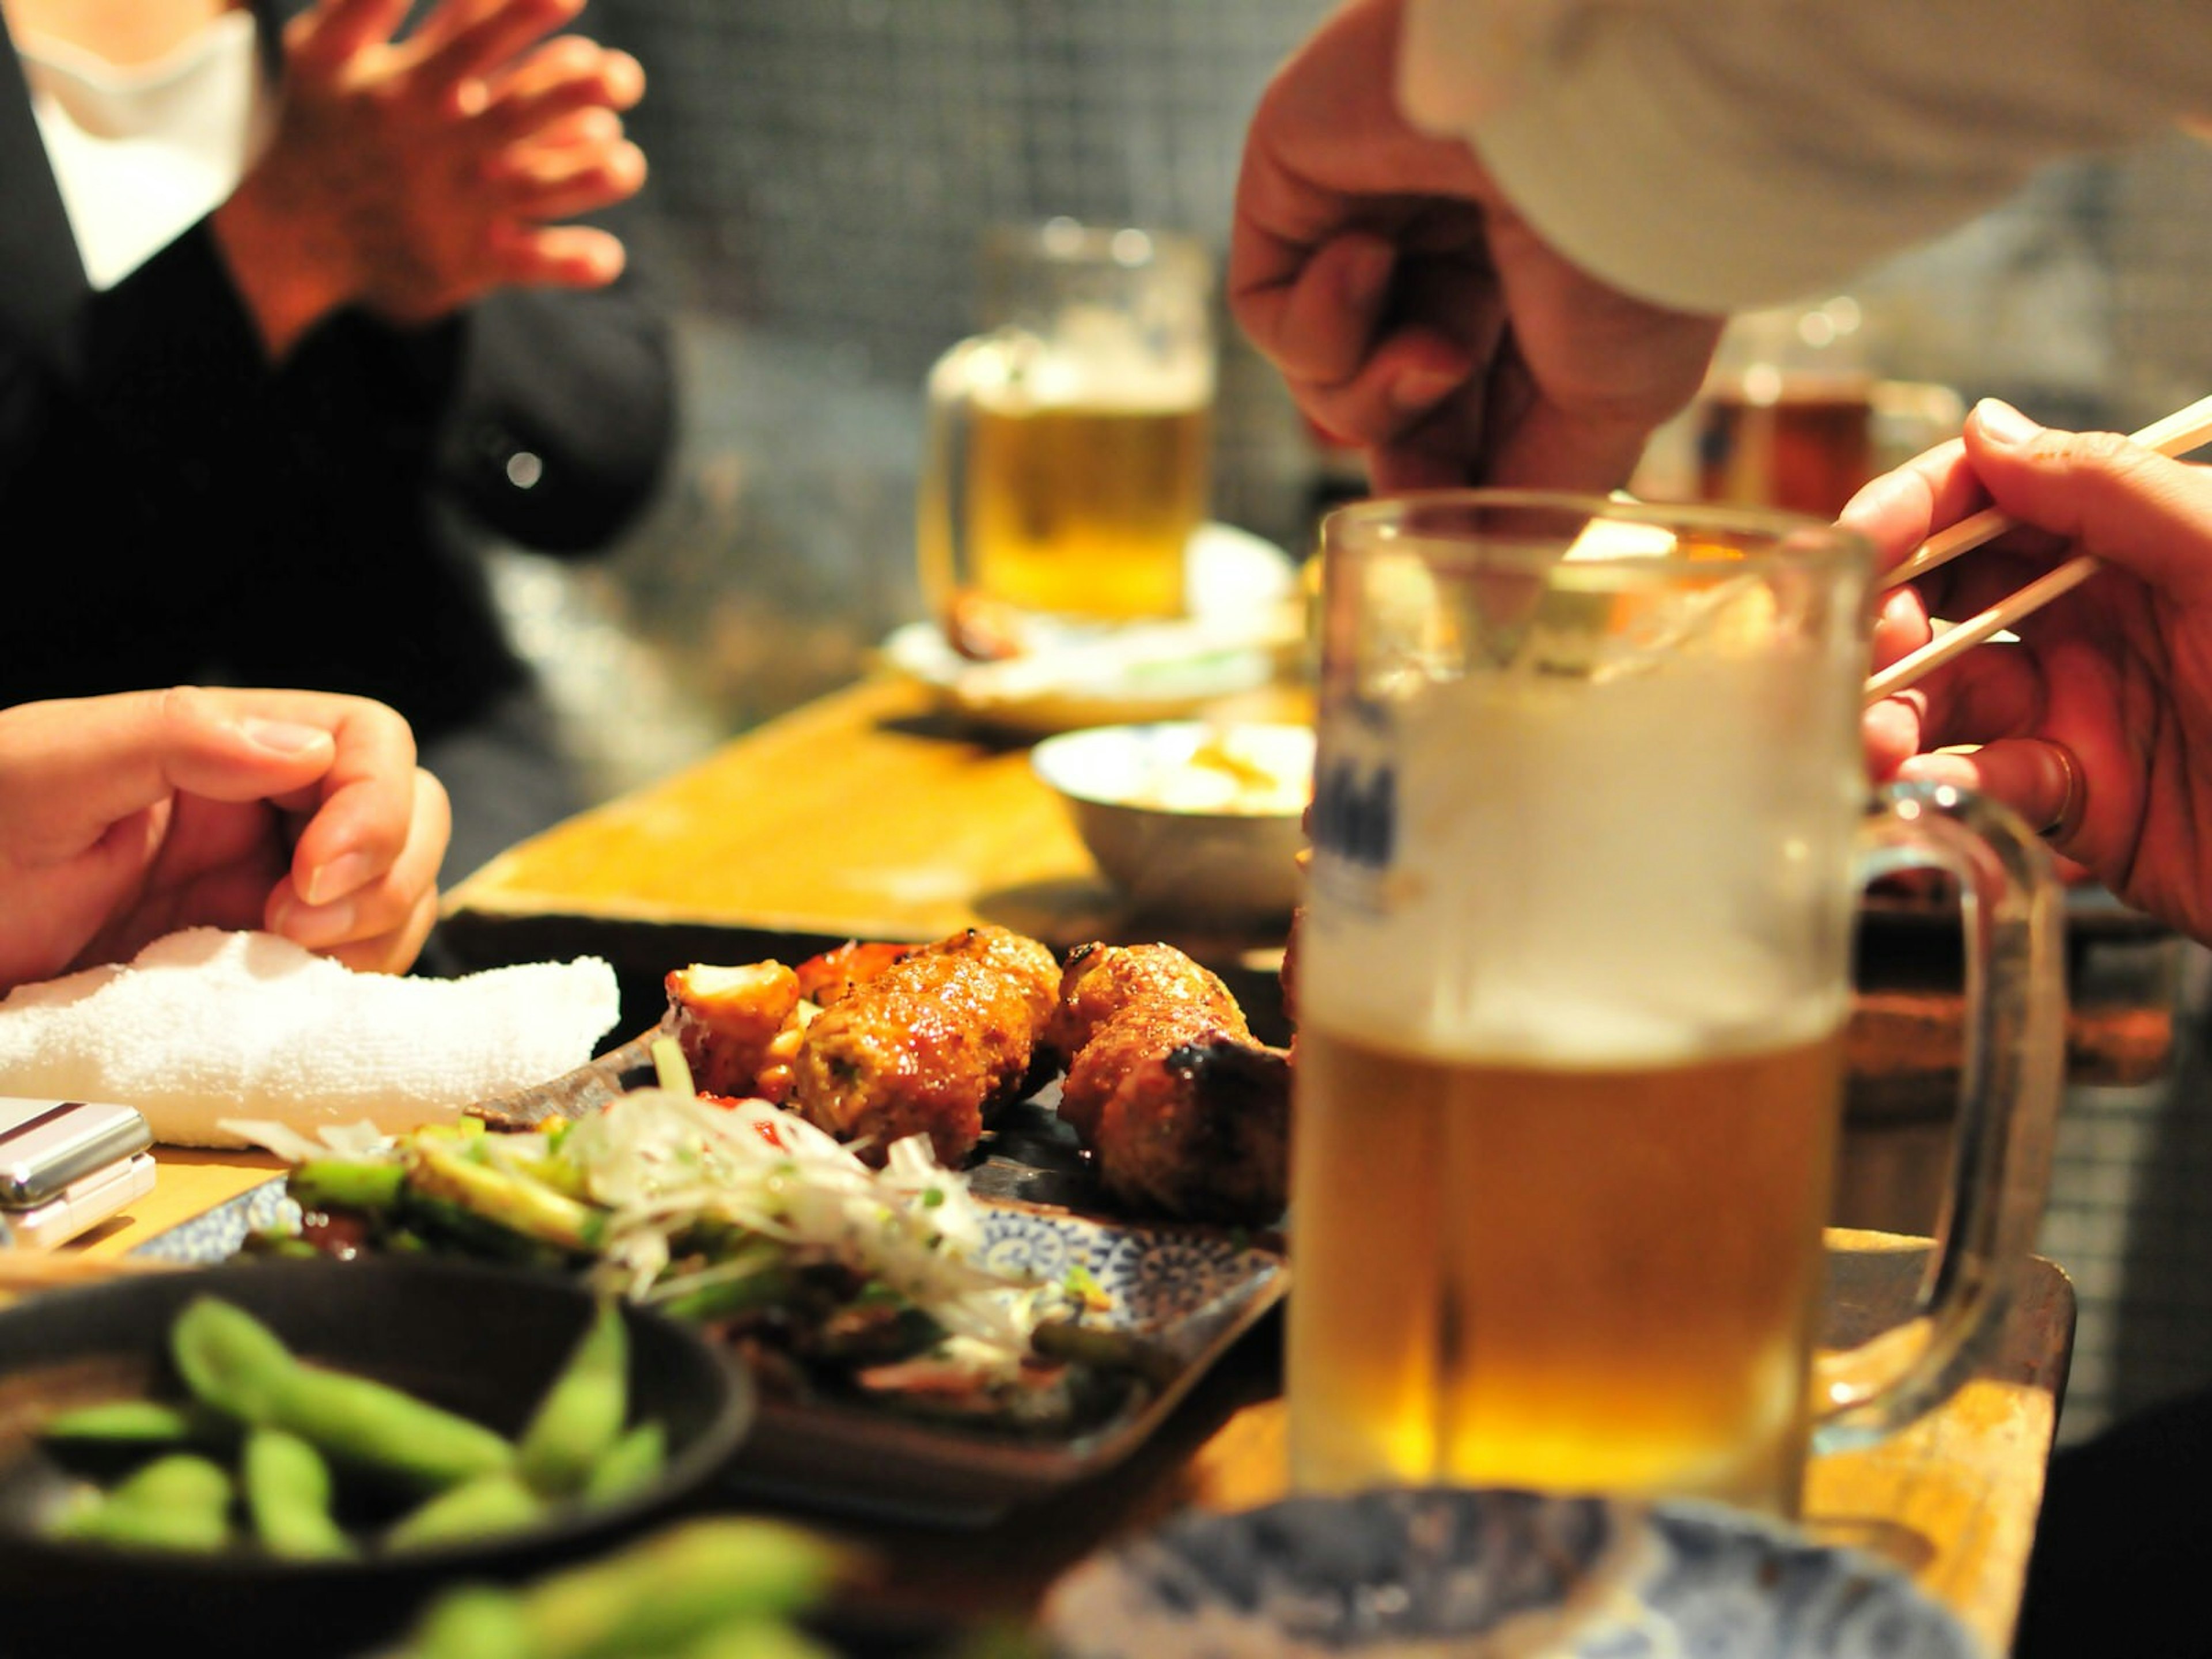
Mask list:
[[1400,0],[1352,0],[1245,135],[1230,310],[1376,489],[1613,489],[1721,332],[1555,254],[1458,139],[1394,100]]

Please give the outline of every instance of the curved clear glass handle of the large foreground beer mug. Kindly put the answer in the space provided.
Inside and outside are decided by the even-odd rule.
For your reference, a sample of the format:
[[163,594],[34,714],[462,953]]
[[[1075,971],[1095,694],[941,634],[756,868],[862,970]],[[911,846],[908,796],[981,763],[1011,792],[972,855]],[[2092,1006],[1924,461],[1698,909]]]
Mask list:
[[1958,880],[1966,1044],[1951,1179],[1913,1316],[1814,1363],[1814,1449],[1902,1429],[1942,1405],[1997,1340],[2035,1248],[2064,1084],[2064,905],[2051,854],[2002,805],[1931,783],[1876,792],[1860,880]]

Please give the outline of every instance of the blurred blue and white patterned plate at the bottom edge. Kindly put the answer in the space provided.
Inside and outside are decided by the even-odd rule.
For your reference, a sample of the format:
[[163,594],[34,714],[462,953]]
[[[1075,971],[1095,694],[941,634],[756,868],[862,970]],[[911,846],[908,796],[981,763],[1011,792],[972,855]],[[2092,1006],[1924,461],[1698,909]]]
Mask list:
[[1752,1515],[1467,1489],[1186,1513],[1044,1626],[1062,1659],[1980,1659],[1896,1568]]

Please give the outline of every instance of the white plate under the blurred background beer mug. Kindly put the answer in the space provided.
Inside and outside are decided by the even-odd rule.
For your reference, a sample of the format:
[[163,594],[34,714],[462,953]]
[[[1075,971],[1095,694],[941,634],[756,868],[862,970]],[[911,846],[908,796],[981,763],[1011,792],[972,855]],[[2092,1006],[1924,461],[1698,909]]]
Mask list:
[[936,622],[909,622],[883,641],[883,659],[936,688],[947,708],[1029,737],[1181,719],[1270,684],[1303,637],[1298,573],[1274,542],[1203,524],[1188,568],[1190,613],[1177,622],[1031,617],[1026,630],[1044,648],[1009,661],[971,661]]

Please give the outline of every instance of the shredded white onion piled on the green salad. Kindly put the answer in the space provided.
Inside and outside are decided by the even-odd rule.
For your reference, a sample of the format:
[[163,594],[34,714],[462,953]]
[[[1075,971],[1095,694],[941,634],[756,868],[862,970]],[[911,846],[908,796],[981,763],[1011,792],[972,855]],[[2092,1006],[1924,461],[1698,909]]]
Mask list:
[[[675,1042],[664,1044],[655,1044],[659,1088],[635,1088],[549,1135],[482,1135],[471,1152],[599,1206],[602,1265],[635,1301],[838,1263],[909,1298],[951,1338],[964,1338],[962,1347],[984,1345],[1004,1358],[1029,1352],[1037,1323],[1066,1292],[980,1265],[982,1210],[967,1177],[936,1161],[927,1135],[894,1141],[885,1168],[874,1170],[765,1099],[701,1099]],[[365,1126],[325,1130],[321,1146],[274,1124],[232,1128],[292,1161],[403,1157],[398,1141],[363,1137]],[[675,1241],[699,1232],[732,1239],[703,1263],[699,1254],[677,1263]]]

